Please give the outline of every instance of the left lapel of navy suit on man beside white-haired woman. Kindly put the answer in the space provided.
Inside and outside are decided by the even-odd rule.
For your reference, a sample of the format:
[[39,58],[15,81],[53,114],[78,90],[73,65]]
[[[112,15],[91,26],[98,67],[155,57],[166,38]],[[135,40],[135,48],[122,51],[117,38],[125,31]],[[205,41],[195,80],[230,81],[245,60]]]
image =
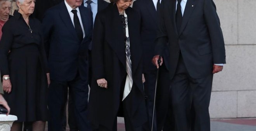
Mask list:
[[76,35],[76,30],[74,29],[74,25],[71,21],[69,12],[67,11],[67,7],[64,2],[62,2],[62,9],[60,10],[59,15],[63,23],[66,25],[67,29],[69,30],[69,32],[78,39],[78,36]]

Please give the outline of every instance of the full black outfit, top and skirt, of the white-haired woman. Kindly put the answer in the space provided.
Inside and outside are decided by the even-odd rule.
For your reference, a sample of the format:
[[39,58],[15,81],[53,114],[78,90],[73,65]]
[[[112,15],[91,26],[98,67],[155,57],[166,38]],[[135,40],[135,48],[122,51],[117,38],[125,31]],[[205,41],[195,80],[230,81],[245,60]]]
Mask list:
[[10,76],[12,84],[10,94],[4,94],[10,114],[16,115],[18,122],[47,121],[48,70],[40,22],[30,16],[28,26],[22,15],[14,12],[2,31],[0,70],[2,76]]

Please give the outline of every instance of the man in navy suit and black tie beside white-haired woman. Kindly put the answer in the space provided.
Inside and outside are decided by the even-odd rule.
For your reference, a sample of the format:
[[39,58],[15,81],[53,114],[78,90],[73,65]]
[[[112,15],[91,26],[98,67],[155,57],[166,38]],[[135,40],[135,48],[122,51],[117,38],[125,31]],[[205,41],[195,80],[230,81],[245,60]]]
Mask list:
[[43,18],[43,33],[51,73],[49,131],[62,129],[67,87],[72,94],[74,117],[80,131],[90,130],[88,104],[88,45],[92,40],[92,12],[82,0],[64,0]]

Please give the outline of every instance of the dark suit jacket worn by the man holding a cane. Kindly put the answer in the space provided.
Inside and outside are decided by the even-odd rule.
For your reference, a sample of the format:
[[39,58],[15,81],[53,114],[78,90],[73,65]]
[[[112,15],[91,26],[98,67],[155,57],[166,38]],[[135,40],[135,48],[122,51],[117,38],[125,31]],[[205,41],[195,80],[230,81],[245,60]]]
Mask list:
[[170,78],[181,51],[189,75],[195,79],[212,73],[213,64],[226,63],[223,34],[213,0],[188,0],[180,32],[176,29],[176,0],[162,0],[156,54],[170,50]]

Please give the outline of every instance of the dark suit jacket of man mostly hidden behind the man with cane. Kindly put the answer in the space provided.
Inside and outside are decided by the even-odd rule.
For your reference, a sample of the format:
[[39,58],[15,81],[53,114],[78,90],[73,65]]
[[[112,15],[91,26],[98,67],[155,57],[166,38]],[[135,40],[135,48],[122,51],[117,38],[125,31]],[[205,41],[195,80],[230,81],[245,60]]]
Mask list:
[[[140,34],[143,47],[143,72],[155,70],[151,59],[155,55],[154,42],[157,31],[157,12],[152,0],[136,0],[133,3],[133,8],[141,15]],[[165,57],[168,58],[168,50],[164,50]],[[167,64],[167,63],[166,63]]]

